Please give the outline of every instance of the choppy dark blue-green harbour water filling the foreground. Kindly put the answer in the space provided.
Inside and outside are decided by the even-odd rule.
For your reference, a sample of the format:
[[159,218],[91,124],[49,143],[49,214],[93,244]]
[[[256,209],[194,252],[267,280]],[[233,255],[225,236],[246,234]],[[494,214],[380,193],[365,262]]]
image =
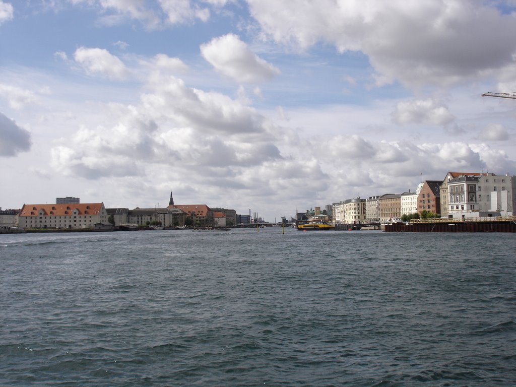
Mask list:
[[0,385],[514,386],[514,234],[0,235]]

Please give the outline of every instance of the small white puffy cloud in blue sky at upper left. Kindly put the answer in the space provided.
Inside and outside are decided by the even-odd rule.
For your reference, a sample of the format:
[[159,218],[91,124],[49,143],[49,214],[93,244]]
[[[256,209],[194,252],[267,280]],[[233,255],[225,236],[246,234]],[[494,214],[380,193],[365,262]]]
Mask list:
[[124,79],[129,71],[115,55],[104,49],[79,47],[73,57],[88,74],[101,74],[111,79]]

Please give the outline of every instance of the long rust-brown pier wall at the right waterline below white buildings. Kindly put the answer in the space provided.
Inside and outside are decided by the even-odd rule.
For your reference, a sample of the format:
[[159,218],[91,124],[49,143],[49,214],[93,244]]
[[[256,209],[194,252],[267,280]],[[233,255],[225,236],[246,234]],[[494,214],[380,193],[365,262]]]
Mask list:
[[385,232],[462,233],[462,232],[516,232],[516,217],[469,219],[412,219],[409,224],[385,224]]

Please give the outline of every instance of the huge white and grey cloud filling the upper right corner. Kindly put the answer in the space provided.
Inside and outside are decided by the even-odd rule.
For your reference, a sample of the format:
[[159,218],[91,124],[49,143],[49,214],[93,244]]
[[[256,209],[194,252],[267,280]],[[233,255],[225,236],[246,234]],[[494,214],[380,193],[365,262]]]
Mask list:
[[377,72],[378,86],[395,80],[411,88],[446,86],[514,66],[514,15],[481,2],[248,3],[264,34],[277,42],[307,50],[322,41],[340,52],[363,52]]

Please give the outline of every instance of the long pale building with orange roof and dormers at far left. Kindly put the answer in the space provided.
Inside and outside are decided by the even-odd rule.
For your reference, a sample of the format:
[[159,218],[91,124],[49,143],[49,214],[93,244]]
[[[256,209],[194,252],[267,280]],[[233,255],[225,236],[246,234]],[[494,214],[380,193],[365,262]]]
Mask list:
[[18,223],[27,229],[89,229],[110,224],[104,203],[24,204]]

